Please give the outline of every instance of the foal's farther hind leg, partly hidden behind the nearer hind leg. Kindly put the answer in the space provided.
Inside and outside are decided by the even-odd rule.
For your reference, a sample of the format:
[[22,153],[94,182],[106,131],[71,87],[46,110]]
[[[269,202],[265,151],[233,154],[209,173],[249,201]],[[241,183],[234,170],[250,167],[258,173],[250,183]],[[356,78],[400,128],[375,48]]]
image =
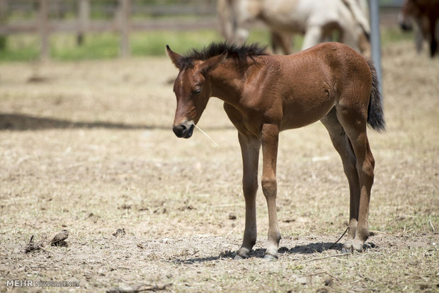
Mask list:
[[350,144],[343,126],[338,122],[336,109],[333,108],[331,112],[320,121],[324,127],[326,127],[326,130],[328,130],[331,142],[341,156],[343,170],[348,178],[350,193],[349,231],[348,240],[344,244],[344,248],[350,251],[352,249],[352,243],[357,229],[358,205],[360,204],[360,182],[358,180],[357,168],[355,168],[357,159],[355,158],[352,145]]

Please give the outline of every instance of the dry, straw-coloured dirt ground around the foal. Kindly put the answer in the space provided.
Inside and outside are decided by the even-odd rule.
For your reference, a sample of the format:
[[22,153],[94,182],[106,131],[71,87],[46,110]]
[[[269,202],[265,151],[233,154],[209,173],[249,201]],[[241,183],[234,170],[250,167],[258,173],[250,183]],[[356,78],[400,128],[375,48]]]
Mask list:
[[[331,247],[348,183],[315,123],[280,137],[275,261],[262,258],[261,190],[254,251],[232,260],[244,230],[236,130],[212,99],[200,127],[219,146],[198,130],[175,137],[168,59],[1,64],[0,291],[439,292],[439,59],[398,42],[382,61],[370,249]],[[47,245],[63,229],[68,246]],[[25,253],[31,236],[45,242]]]

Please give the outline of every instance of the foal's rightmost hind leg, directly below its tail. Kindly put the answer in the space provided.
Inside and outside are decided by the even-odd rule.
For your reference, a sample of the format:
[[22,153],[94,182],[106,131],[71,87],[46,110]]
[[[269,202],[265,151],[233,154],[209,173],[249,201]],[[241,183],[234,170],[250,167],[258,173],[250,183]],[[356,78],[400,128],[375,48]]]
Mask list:
[[357,169],[360,183],[360,203],[358,206],[358,224],[355,230],[355,238],[352,242],[352,249],[363,251],[364,242],[369,237],[370,190],[373,184],[375,167],[375,160],[367,139],[367,111],[362,110],[358,105],[338,103],[336,105],[336,115],[348,135],[357,158],[355,168]]

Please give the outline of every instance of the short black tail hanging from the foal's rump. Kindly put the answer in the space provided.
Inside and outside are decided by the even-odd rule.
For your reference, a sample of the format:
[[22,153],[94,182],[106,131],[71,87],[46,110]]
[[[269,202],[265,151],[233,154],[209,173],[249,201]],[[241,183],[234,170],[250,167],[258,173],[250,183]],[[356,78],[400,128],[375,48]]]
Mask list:
[[374,130],[385,130],[384,109],[380,95],[380,84],[378,82],[377,71],[372,60],[367,60],[367,64],[372,71],[372,91],[370,92],[369,107],[367,108],[367,124]]

